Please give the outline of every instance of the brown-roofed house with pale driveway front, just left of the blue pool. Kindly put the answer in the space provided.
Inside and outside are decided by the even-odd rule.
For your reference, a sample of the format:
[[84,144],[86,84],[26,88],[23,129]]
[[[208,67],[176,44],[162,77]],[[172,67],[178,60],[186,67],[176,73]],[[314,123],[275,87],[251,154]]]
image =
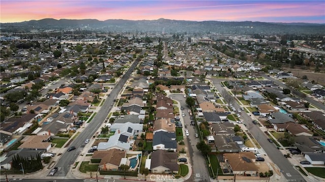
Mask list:
[[120,151],[118,149],[111,149],[108,151],[95,151],[91,156],[91,160],[100,159],[99,168],[102,171],[106,170],[118,170],[123,163],[123,159],[126,157],[125,151]]

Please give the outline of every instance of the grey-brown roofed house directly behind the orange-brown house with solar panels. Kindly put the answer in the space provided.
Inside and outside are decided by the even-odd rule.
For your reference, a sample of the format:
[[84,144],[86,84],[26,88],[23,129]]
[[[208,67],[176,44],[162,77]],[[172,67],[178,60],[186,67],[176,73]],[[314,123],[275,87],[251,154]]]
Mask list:
[[241,152],[239,144],[229,135],[215,135],[214,144],[219,152]]

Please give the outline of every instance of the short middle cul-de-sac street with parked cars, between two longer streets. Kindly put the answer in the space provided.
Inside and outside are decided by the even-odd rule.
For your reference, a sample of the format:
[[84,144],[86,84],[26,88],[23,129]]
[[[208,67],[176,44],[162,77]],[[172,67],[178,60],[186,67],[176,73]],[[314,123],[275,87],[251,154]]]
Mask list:
[[[183,135],[184,135],[184,140],[186,140],[187,142],[187,149],[188,149],[187,156],[190,157],[191,159],[190,163],[192,165],[192,175],[187,181],[193,181],[193,180],[210,181],[210,176],[205,164],[205,159],[201,154],[201,152],[196,147],[200,139],[195,136],[195,133],[197,133],[195,126],[190,125],[190,116],[188,114],[189,107],[185,103],[186,98],[184,98],[183,95],[184,94],[171,94],[169,95],[169,97],[179,101],[181,106],[184,107],[184,110],[181,111],[185,114],[185,117],[183,117],[183,121],[184,121]],[[184,128],[188,129],[189,136],[185,136]]]

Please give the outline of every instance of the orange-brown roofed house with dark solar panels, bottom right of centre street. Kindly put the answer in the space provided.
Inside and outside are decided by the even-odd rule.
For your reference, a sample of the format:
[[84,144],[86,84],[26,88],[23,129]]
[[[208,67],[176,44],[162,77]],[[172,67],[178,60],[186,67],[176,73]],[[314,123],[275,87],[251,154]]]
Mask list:
[[223,160],[236,175],[258,175],[258,167],[255,164],[256,157],[252,152],[226,153]]

